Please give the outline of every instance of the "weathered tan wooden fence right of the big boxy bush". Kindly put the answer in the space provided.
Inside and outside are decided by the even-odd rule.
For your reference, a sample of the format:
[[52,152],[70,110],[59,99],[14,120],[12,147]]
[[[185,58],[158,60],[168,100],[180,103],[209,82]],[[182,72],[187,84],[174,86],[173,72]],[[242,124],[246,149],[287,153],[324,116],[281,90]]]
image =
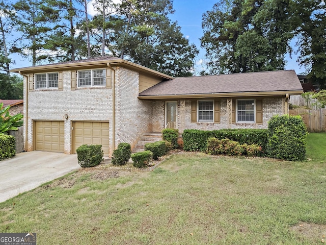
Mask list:
[[326,131],[326,109],[293,109],[290,115],[300,115],[304,120],[309,132]]

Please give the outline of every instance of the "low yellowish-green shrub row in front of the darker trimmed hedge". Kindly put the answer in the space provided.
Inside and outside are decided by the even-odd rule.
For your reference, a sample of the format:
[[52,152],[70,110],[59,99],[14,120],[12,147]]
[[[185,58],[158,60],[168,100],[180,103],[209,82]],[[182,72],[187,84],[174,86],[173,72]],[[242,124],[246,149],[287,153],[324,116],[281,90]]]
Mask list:
[[240,144],[230,139],[207,139],[207,153],[212,155],[229,155],[229,156],[260,156],[261,147],[258,144]]

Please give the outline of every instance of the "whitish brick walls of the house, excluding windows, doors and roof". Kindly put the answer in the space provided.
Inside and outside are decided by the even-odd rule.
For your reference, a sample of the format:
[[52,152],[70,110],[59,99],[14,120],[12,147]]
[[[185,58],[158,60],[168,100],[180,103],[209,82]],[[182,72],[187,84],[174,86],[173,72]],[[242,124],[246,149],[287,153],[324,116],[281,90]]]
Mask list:
[[28,87],[31,80],[28,79],[33,76],[26,74],[23,107],[25,150],[34,150],[35,120],[64,121],[64,153],[66,154],[72,153],[74,121],[108,122],[109,156],[111,156],[120,142],[128,142],[133,148],[143,133],[160,132],[164,129],[166,102],[177,102],[177,128],[180,133],[184,129],[267,128],[271,116],[281,115],[287,111],[285,97],[265,97],[262,100],[262,124],[235,124],[231,123],[232,100],[222,98],[219,123],[192,122],[191,100],[140,100],[138,98],[139,70],[123,66],[115,66],[112,69],[112,86],[107,87],[78,88],[72,82],[75,81],[72,77],[74,71],[67,69],[62,72],[62,89],[31,90],[31,87]]

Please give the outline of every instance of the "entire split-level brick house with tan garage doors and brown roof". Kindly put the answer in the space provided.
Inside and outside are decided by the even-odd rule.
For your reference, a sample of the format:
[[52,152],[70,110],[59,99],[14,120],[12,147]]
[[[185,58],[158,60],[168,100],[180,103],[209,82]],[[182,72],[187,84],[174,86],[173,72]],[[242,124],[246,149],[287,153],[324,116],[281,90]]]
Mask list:
[[114,57],[12,72],[24,77],[25,150],[66,154],[86,143],[111,156],[120,142],[134,147],[167,127],[267,128],[302,93],[293,70],[172,78]]

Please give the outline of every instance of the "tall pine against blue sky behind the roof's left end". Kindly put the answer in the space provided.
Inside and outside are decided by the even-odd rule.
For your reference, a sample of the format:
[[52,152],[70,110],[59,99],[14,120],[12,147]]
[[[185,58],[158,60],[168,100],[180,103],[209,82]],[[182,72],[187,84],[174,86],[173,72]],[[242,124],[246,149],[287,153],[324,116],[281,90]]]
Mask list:
[[52,16],[42,11],[41,0],[19,0],[13,5],[14,24],[20,33],[13,50],[24,57],[32,56],[32,65],[50,57],[45,43],[52,31]]

